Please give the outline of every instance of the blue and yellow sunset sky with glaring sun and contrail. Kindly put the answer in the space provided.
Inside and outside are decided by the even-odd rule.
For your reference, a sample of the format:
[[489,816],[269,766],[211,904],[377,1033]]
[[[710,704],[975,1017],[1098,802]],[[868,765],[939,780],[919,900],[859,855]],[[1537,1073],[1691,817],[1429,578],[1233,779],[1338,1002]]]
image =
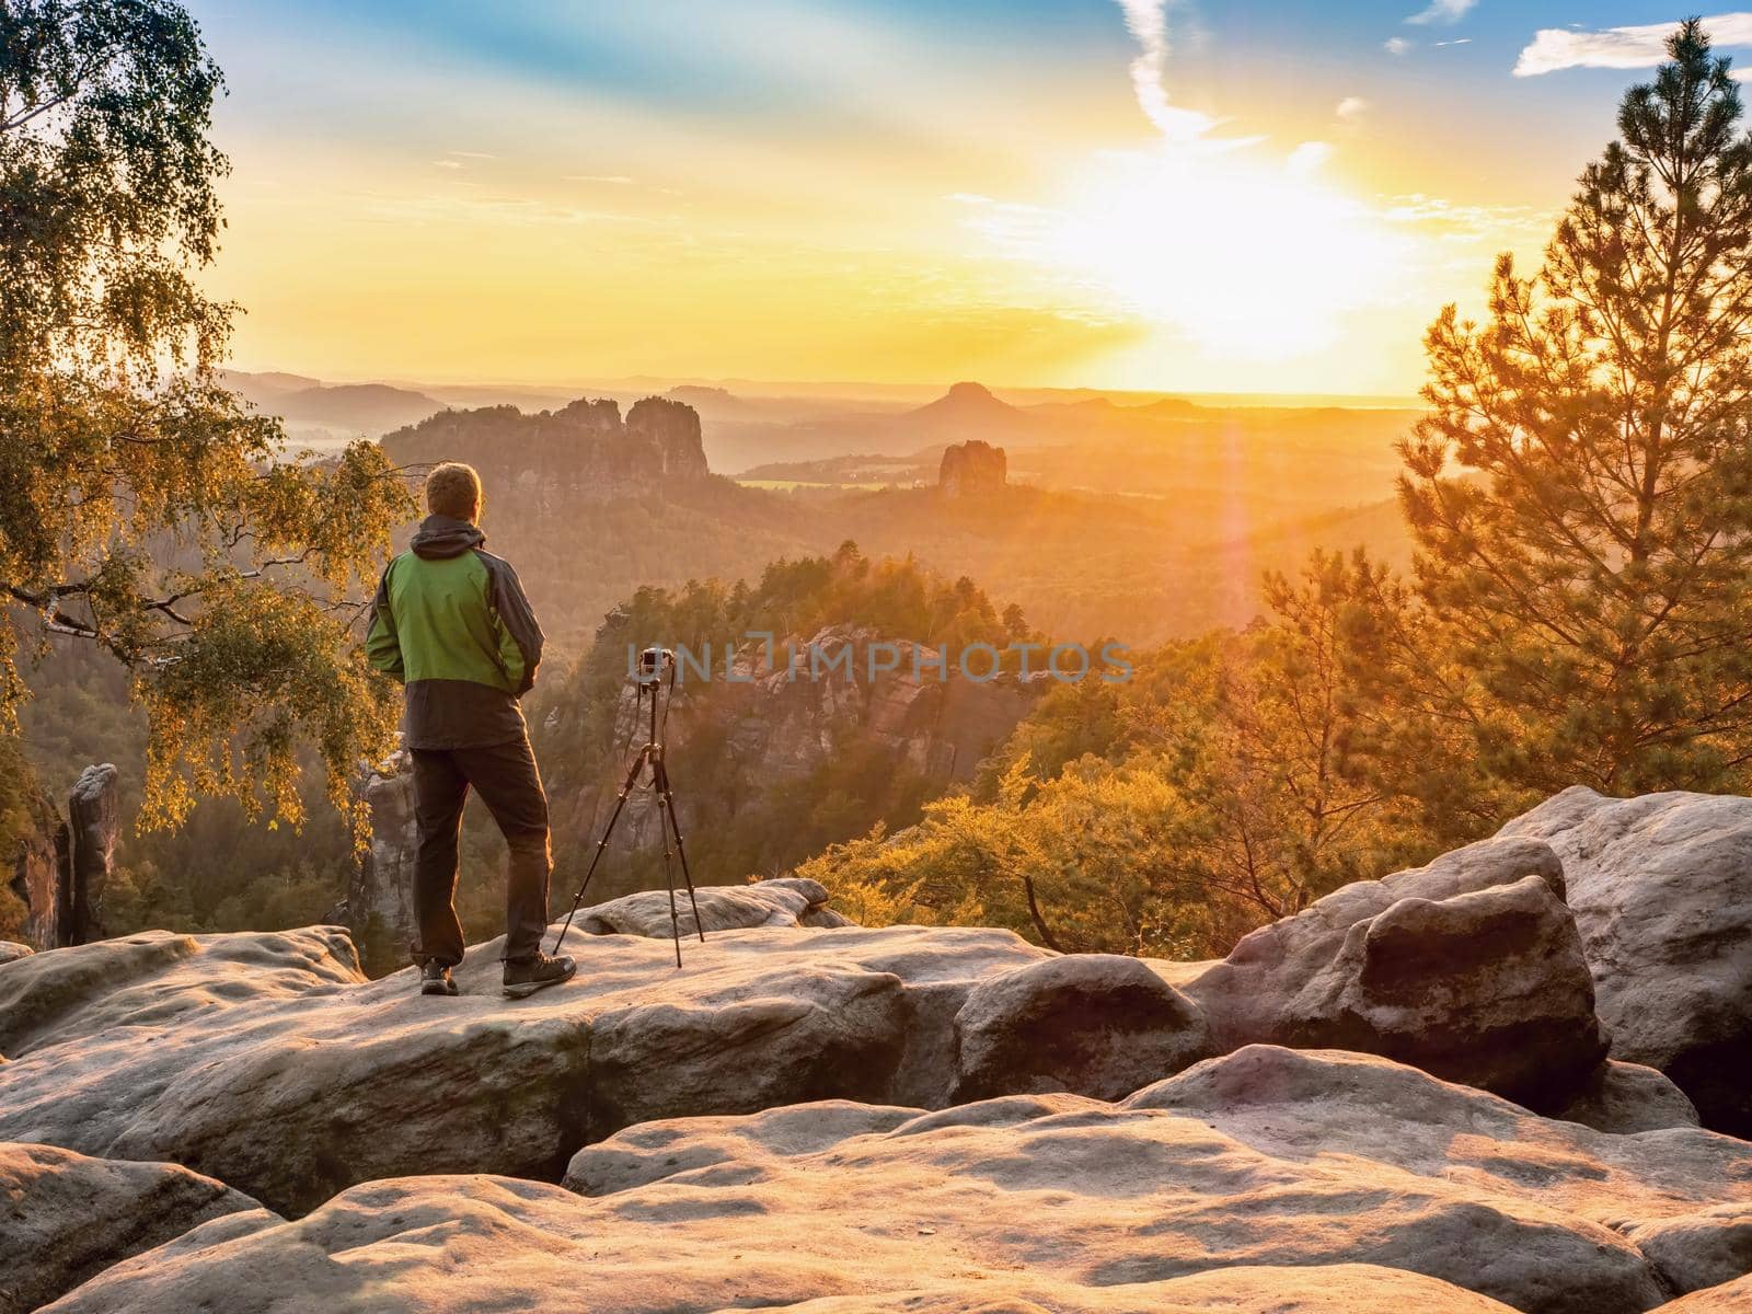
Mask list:
[[207,284],[328,380],[1410,394],[1682,16],[1423,4],[189,0]]

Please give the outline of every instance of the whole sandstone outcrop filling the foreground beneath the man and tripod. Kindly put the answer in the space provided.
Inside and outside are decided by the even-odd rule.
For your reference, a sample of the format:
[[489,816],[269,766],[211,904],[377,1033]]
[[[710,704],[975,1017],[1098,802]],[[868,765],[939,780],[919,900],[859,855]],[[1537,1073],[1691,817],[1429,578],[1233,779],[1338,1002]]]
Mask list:
[[664,895],[587,909],[527,1000],[498,941],[427,999],[336,927],[0,962],[0,1302],[1743,1310],[1752,1142],[1594,1013],[1640,964],[1633,1042],[1745,1074],[1733,909],[1671,908],[1680,862],[1741,897],[1741,802],[1559,795],[1214,964],[834,925],[795,880],[704,890],[682,971]]

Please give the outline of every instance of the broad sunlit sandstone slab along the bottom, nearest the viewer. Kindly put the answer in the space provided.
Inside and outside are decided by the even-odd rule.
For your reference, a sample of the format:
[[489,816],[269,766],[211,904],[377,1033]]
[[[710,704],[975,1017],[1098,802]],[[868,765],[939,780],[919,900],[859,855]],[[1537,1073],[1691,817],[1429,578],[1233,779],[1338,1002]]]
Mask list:
[[566,1184],[373,1181],[298,1221],[203,1225],[56,1309],[1633,1314],[1680,1272],[1638,1237],[1726,1216],[1752,1146],[1253,1046],[1121,1104],[641,1123]]

